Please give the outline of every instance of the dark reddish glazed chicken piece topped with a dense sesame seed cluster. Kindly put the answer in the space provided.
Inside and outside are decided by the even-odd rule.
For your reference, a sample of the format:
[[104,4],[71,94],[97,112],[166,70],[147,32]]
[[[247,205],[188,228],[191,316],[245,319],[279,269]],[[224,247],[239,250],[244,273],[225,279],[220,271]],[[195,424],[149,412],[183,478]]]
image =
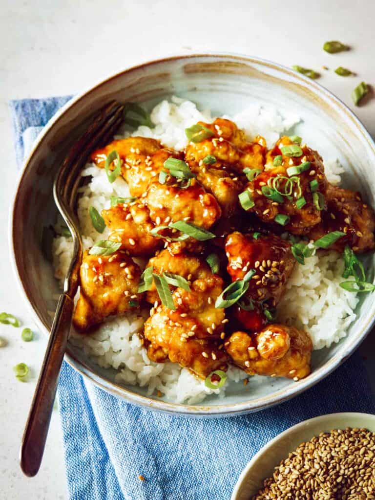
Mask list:
[[295,264],[290,243],[276,235],[260,234],[254,239],[252,234],[235,231],[226,238],[225,252],[232,281],[255,269],[246,295],[254,300],[273,298],[276,305]]

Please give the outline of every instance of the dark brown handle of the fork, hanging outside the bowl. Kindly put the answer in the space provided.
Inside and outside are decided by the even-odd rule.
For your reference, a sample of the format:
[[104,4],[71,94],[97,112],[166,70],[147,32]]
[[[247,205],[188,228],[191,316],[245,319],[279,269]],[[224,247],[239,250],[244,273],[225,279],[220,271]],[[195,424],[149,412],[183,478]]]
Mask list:
[[58,299],[48,345],[44,354],[20,449],[24,474],[34,476],[43,456],[49,421],[56,395],[58,376],[73,315],[73,300],[66,293]]

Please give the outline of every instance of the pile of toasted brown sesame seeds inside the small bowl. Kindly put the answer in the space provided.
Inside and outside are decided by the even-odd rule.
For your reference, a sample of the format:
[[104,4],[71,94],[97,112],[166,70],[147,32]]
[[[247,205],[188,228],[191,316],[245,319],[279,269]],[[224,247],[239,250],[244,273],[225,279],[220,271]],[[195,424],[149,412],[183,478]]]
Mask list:
[[375,498],[375,433],[350,428],[301,443],[252,500]]

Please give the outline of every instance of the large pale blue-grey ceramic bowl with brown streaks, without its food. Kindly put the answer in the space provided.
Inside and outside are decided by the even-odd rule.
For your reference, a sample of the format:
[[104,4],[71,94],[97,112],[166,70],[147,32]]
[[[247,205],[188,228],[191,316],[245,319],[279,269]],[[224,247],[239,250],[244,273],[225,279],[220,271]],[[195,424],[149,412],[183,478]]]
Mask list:
[[[53,224],[57,214],[52,199],[56,169],[69,145],[105,103],[112,99],[137,101],[150,108],[172,94],[218,114],[233,114],[251,103],[293,111],[303,120],[293,133],[306,137],[324,157],[339,158],[346,169],[344,182],[360,189],[375,205],[374,142],[356,116],[316,82],[278,64],[240,55],[176,56],[126,69],[65,105],[38,137],[20,175],[11,212],[11,253],[22,293],[45,333],[55,308],[52,297],[59,291],[42,241],[43,228]],[[314,353],[313,370],[307,378],[294,382],[252,377],[246,387],[232,384],[225,398],[210,396],[204,405],[173,404],[147,397],[141,387],[119,385],[113,370],[100,368],[71,344],[66,360],[100,387],[133,403],[179,414],[228,416],[280,403],[317,383],[360,344],[370,330],[374,312],[375,294],[364,294],[348,336],[330,349]]]

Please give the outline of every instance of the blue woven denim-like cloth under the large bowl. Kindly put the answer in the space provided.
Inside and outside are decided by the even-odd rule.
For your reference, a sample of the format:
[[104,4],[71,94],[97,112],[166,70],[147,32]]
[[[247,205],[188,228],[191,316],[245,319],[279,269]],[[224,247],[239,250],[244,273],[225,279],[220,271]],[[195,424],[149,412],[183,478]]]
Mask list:
[[[19,166],[40,127],[67,100],[10,103]],[[232,418],[183,418],[134,406],[84,380],[66,362],[58,395],[74,500],[229,500],[243,467],[279,432],[324,413],[375,411],[358,353],[293,400]]]

